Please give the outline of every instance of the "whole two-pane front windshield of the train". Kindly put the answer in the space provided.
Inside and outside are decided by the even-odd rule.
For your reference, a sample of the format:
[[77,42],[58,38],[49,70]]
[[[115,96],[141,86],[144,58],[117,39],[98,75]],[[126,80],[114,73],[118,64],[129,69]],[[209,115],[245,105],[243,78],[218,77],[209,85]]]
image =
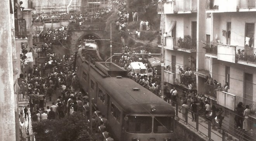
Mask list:
[[154,133],[173,133],[174,118],[171,116],[127,116],[125,131],[128,133],[152,133],[152,122],[154,122]]

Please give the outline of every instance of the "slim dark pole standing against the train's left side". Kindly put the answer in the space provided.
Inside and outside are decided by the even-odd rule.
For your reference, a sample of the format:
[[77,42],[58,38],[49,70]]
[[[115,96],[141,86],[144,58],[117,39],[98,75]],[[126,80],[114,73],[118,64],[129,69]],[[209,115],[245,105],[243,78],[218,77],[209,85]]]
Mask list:
[[89,108],[90,108],[90,133],[92,134],[92,93],[90,92],[91,88],[91,75],[90,75],[90,70],[91,70],[91,57],[88,57],[88,95],[89,95]]

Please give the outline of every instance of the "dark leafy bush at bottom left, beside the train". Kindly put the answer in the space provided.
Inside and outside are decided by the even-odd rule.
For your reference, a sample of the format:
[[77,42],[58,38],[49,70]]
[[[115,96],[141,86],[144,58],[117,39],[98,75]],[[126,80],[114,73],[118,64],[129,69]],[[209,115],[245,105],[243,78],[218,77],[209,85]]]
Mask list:
[[36,141],[92,141],[88,121],[81,113],[63,119],[32,123]]

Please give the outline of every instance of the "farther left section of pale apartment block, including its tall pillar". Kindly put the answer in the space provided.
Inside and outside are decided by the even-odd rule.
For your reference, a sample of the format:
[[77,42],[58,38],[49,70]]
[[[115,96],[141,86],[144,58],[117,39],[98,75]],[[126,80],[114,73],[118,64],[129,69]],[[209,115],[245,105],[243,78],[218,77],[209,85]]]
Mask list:
[[[197,87],[196,75],[185,80],[180,79],[179,70],[196,71],[198,67],[204,67],[197,63],[197,60],[204,61],[204,54],[198,53],[202,50],[199,40],[204,40],[205,29],[202,24],[205,20],[204,0],[176,0],[159,4],[158,13],[162,15],[161,25],[164,25],[163,44],[165,48],[165,81],[188,89],[189,83],[192,89]],[[163,24],[164,23],[164,24]],[[161,47],[161,45],[159,45]],[[204,51],[204,50],[202,50]]]

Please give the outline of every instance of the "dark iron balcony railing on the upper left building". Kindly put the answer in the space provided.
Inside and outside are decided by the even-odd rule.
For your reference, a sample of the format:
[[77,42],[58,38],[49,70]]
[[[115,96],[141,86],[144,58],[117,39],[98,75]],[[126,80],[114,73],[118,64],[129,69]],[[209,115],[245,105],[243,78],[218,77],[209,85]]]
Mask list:
[[25,39],[27,35],[26,20],[16,19],[15,24],[15,37],[18,39]]

